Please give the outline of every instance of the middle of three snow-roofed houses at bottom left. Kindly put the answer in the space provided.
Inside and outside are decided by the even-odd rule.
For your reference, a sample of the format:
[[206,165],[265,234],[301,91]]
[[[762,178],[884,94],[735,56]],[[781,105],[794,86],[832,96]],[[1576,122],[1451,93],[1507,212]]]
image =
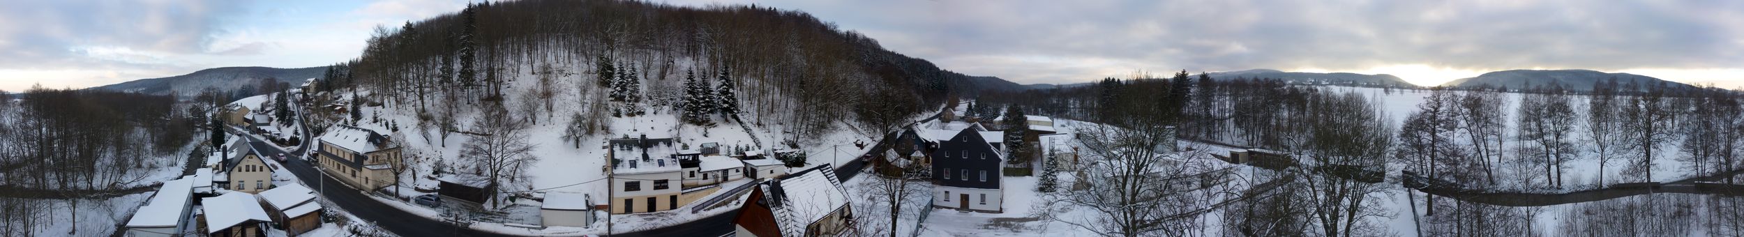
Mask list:
[[208,237],[263,237],[272,218],[251,193],[230,192],[201,199]]

